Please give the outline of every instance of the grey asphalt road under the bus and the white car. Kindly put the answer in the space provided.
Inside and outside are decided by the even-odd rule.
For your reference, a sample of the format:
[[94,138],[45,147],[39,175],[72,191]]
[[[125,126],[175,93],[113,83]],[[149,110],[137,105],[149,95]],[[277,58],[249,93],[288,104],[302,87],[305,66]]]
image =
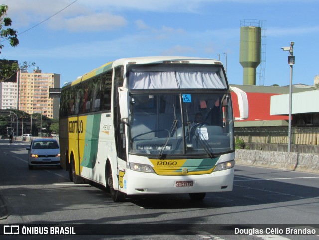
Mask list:
[[[201,202],[192,202],[187,194],[182,194],[129,197],[122,203],[114,203],[105,189],[88,183],[75,185],[69,181],[68,173],[58,167],[29,170],[27,146],[25,142],[15,141],[9,145],[8,140],[0,140],[0,228],[1,225],[14,224],[76,224],[85,229],[87,224],[96,224],[93,225],[98,228],[96,231],[103,232],[103,228],[113,226],[113,233],[116,228],[121,228],[120,235],[112,236],[45,236],[45,239],[52,240],[319,239],[318,174],[236,165],[233,191],[208,193]],[[150,227],[147,224],[155,225]],[[317,225],[317,232],[316,235],[300,236],[256,232],[223,235],[223,232],[206,231],[220,225],[239,225],[240,228],[267,225],[280,229],[282,224]],[[171,230],[171,226],[180,226],[181,233]],[[194,226],[200,226],[196,234],[193,233]],[[139,234],[128,235],[134,232],[134,228]],[[188,234],[187,230],[191,233]],[[151,234],[143,235],[143,231]],[[152,234],[152,231],[155,232]],[[0,239],[43,239],[43,236],[3,235]]]

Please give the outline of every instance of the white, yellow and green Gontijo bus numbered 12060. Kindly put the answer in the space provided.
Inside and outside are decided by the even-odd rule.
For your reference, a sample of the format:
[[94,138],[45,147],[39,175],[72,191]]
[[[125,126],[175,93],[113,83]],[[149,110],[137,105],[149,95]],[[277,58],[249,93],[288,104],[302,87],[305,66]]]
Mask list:
[[[239,89],[236,89],[238,92]],[[239,91],[241,118],[248,117]],[[230,87],[218,60],[138,57],[109,62],[61,90],[61,166],[70,180],[126,195],[231,191]]]

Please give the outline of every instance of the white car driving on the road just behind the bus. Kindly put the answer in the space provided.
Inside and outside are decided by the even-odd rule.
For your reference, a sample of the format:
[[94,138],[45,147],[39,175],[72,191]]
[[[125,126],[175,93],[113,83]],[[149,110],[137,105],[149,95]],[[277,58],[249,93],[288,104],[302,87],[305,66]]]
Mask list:
[[60,146],[55,139],[34,139],[26,150],[28,150],[29,169],[34,166],[60,166]]

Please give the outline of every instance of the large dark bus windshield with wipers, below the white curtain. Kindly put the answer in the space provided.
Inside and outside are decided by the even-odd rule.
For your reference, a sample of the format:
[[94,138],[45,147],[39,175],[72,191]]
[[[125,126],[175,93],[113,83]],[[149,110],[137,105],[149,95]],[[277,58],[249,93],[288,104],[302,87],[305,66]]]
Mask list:
[[213,157],[233,151],[228,94],[132,94],[130,152]]

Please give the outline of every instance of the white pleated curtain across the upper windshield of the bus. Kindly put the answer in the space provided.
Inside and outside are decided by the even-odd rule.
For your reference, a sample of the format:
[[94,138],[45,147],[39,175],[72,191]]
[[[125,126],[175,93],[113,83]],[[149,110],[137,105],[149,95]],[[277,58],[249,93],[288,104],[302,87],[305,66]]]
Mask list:
[[130,72],[130,89],[225,89],[216,72]]

